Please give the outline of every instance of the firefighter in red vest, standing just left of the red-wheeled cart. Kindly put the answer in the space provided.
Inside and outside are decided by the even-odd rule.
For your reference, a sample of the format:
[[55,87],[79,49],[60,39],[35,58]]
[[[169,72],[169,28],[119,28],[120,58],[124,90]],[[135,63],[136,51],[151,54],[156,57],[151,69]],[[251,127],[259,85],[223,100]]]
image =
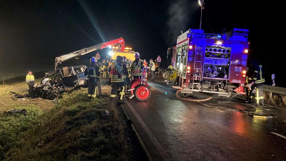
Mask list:
[[116,99],[116,93],[117,89],[120,88],[120,97],[118,102],[119,103],[124,103],[126,100],[123,99],[123,96],[125,94],[125,82],[123,79],[123,67],[122,67],[122,57],[117,56],[116,57],[116,62],[112,62],[111,68],[110,68],[110,78],[112,82],[111,86],[111,94],[110,94],[110,99],[111,101],[115,101]]

